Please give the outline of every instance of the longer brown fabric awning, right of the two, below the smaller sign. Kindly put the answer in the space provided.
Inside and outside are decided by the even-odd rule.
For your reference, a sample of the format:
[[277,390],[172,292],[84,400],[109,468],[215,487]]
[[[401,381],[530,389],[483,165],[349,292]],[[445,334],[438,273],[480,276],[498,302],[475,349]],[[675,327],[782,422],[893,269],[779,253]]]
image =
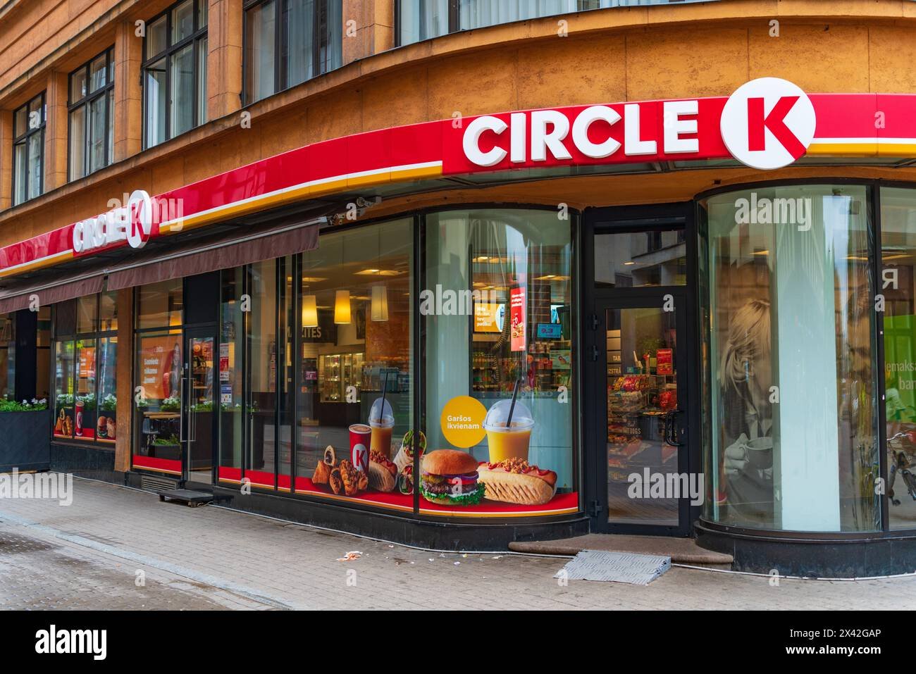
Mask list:
[[169,253],[160,250],[130,264],[108,269],[108,289],[133,288],[314,250],[318,247],[319,227],[326,222],[324,217],[314,218],[255,234],[236,234],[208,243],[194,242]]

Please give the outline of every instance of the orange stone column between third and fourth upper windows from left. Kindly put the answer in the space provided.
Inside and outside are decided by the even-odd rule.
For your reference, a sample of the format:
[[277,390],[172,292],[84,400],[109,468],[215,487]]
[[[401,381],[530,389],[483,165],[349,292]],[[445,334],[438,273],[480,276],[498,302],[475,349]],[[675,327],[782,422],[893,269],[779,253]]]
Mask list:
[[242,107],[242,0],[209,0],[207,119]]

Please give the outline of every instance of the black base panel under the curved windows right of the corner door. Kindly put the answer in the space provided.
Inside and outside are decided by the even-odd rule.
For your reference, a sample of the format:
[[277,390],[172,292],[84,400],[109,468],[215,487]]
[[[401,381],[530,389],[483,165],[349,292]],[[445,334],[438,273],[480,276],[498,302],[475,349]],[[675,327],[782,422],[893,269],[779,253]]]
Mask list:
[[916,536],[780,537],[722,531],[697,522],[697,543],[735,558],[735,571],[806,578],[867,578],[916,571]]

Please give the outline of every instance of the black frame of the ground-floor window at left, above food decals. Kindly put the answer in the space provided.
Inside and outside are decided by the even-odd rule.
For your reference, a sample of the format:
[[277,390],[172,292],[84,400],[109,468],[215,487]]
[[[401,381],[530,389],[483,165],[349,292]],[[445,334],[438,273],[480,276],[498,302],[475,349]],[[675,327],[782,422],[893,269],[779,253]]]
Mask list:
[[[53,310],[52,318],[51,318],[52,326],[55,326],[55,327],[57,326],[58,312],[60,310],[60,306],[63,304],[71,304],[73,306],[75,322],[73,324],[73,331],[68,332],[67,334],[59,335],[53,329],[51,330],[51,339],[50,339],[50,343],[48,347],[49,353],[50,353],[50,366],[49,366],[49,375],[50,375],[49,385],[50,386],[49,386],[48,408],[51,411],[51,419],[50,419],[51,442],[80,442],[80,443],[91,444],[96,447],[101,447],[109,451],[114,451],[114,441],[115,440],[99,439],[95,435],[96,429],[93,429],[92,438],[85,438],[82,436],[77,437],[75,434],[71,436],[63,436],[63,435],[57,435],[54,433],[54,424],[57,421],[57,410],[58,410],[57,390],[55,387],[55,383],[56,383],[55,375],[56,375],[56,370],[57,370],[57,345],[60,342],[70,342],[72,344],[71,353],[72,353],[73,360],[72,360],[70,380],[71,380],[71,384],[73,388],[73,404],[71,407],[73,409],[74,417],[76,414],[76,395],[77,395],[76,394],[76,390],[77,390],[76,385],[77,385],[77,379],[79,378],[79,358],[78,358],[79,349],[77,347],[77,342],[82,341],[82,342],[91,342],[92,343],[93,348],[95,349],[95,354],[96,354],[95,363],[94,363],[95,391],[93,392],[93,397],[95,398],[95,409],[93,411],[96,414],[96,419],[98,419],[98,413],[99,411],[101,411],[100,393],[101,393],[102,387],[99,386],[100,385],[99,367],[102,363],[102,359],[98,357],[99,349],[101,348],[102,340],[118,338],[117,328],[114,328],[113,330],[103,330],[102,329],[101,311],[102,311],[102,296],[104,294],[105,292],[103,291],[103,292],[93,293],[93,295],[91,296],[82,296],[82,297],[93,297],[95,299],[95,319],[93,321],[94,325],[93,325],[92,332],[79,332],[79,328],[77,327],[79,325],[79,315],[78,315],[79,310],[77,308],[77,301],[82,298],[67,299],[67,300],[64,300],[63,302],[59,302],[52,306],[52,310]],[[116,304],[115,304],[115,311],[116,311]],[[115,372],[116,372],[116,369],[117,369],[117,351],[116,349],[114,353],[114,362],[115,362]],[[75,427],[76,419],[74,418],[73,421],[74,421],[74,427]],[[75,432],[75,429],[74,429],[74,432]]]

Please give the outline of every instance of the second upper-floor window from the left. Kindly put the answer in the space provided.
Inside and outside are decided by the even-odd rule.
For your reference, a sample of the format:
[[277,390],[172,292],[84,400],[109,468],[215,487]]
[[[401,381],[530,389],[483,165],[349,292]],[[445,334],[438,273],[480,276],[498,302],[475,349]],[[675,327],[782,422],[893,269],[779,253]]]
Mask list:
[[114,159],[114,49],[70,74],[69,179],[87,176]]

